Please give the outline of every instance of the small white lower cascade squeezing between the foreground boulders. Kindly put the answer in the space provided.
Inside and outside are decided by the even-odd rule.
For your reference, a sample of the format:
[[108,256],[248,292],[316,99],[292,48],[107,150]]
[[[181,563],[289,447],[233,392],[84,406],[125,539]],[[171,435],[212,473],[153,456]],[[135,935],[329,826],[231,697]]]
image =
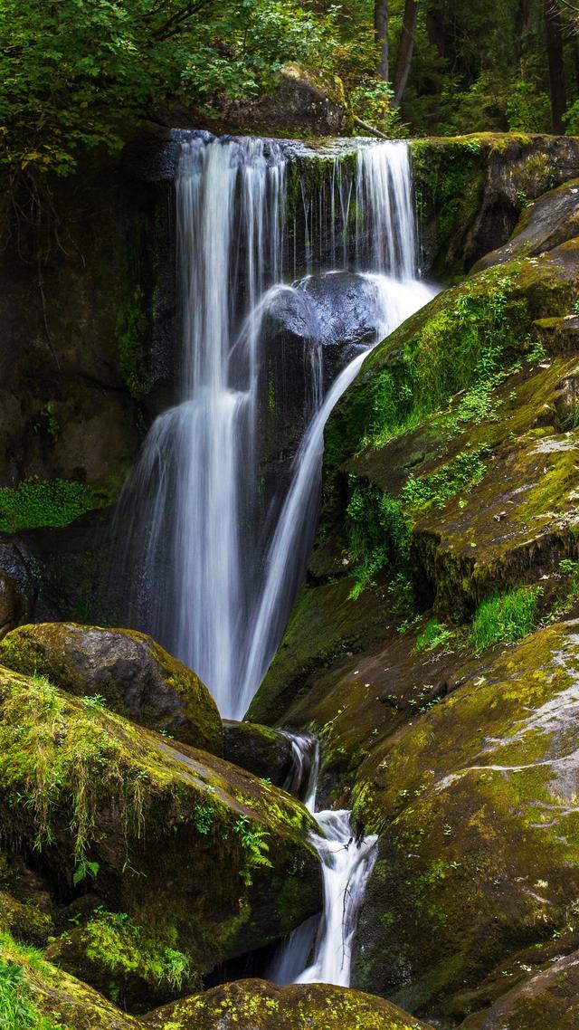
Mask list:
[[[346,809],[315,812],[319,752],[309,734],[285,732],[294,751],[294,783],[307,782],[305,805],[320,833],[310,843],[321,863],[323,913],[306,920],[282,946],[268,975],[276,984],[336,984],[349,987],[352,943],[366,884],[376,858],[377,837],[359,837]],[[313,958],[309,962],[310,956]]]

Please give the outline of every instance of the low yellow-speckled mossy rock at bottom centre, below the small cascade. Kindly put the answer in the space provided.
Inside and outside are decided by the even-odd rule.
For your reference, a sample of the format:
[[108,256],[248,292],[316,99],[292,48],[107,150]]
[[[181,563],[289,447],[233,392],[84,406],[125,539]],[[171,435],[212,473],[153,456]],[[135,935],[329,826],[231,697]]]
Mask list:
[[383,998],[328,984],[237,981],[149,1012],[150,1030],[429,1030]]

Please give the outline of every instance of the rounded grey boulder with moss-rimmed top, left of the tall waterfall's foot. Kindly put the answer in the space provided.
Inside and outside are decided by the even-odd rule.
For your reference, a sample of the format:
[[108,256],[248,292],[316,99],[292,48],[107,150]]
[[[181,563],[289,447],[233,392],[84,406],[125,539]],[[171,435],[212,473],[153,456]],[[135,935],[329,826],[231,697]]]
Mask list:
[[73,622],[19,626],[2,641],[0,662],[45,676],[77,696],[102,696],[142,726],[223,753],[222,722],[209,691],[145,633]]

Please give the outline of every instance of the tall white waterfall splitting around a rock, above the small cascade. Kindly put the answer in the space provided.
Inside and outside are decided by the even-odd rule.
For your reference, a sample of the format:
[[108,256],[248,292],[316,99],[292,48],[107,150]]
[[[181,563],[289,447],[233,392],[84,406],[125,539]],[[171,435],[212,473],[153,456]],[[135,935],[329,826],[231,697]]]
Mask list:
[[[339,157],[325,160],[315,188],[300,173],[291,225],[287,181],[297,165],[290,144],[180,136],[181,397],[148,433],[121,521],[136,584],[131,621],[194,668],[228,718],[245,713],[304,575],[332,408],[369,345],[433,294],[416,273],[407,145],[361,142],[349,170]],[[336,265],[360,273],[356,283],[377,314],[365,349],[356,344],[328,382],[328,305],[319,308],[310,280],[284,277],[290,269],[319,275]],[[331,281],[316,280],[318,293]],[[281,477],[266,503],[259,425],[268,402],[268,318],[280,299],[299,306],[311,344],[307,427],[287,482]]]

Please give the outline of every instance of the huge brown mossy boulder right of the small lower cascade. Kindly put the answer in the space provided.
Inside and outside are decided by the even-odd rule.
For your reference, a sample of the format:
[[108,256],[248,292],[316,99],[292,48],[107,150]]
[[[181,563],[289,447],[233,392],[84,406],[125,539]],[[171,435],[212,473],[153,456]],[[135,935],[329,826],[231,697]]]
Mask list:
[[577,948],[578,663],[579,622],[541,629],[362,764],[354,813],[381,835],[355,986],[459,1020],[522,949]]

